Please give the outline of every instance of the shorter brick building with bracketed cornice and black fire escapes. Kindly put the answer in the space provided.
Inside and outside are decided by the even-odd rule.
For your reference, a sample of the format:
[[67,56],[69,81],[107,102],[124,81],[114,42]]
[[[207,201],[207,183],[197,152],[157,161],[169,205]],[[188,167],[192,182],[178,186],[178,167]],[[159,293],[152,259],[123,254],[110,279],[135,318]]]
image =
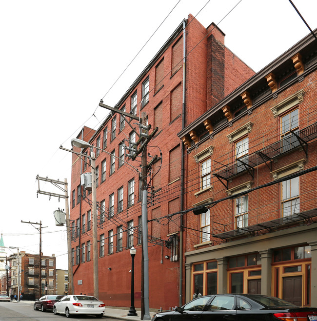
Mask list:
[[207,109],[178,133],[186,301],[198,289],[316,306],[316,40],[308,35]]

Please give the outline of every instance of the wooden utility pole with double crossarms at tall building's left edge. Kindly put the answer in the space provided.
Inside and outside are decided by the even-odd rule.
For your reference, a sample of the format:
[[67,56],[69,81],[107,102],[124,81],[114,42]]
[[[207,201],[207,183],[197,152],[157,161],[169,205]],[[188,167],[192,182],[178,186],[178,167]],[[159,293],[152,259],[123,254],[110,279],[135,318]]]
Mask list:
[[[65,199],[65,214],[66,214],[66,233],[67,233],[67,253],[68,253],[68,282],[69,282],[69,294],[73,294],[74,291],[74,279],[73,279],[73,266],[72,266],[72,240],[71,240],[71,231],[70,231],[70,218],[69,218],[69,197],[68,197],[68,183],[67,179],[64,181],[52,180],[47,177],[40,177],[37,175],[36,179],[38,180],[38,194],[54,196],[61,199]],[[40,181],[46,181],[52,183],[54,186],[58,187],[64,192],[64,194],[45,192],[40,190]]]

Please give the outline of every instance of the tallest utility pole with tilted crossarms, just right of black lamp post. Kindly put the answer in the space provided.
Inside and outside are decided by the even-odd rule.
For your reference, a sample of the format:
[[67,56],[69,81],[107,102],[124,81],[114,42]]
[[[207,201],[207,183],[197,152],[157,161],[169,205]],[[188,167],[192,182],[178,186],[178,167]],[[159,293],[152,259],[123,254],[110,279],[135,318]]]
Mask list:
[[[148,226],[147,226],[147,173],[151,168],[151,165],[154,163],[152,160],[149,164],[147,162],[147,144],[153,138],[153,136],[157,133],[158,127],[156,127],[151,134],[149,134],[149,130],[151,129],[151,125],[146,124],[146,113],[142,112],[141,120],[139,117],[134,116],[132,114],[128,114],[119,110],[117,108],[110,107],[103,103],[103,100],[100,100],[99,106],[111,110],[113,112],[119,113],[122,115],[124,120],[128,123],[128,125],[134,130],[134,132],[139,137],[139,140],[133,144],[131,147],[126,147],[129,150],[129,154],[126,155],[131,158],[132,161],[136,159],[136,157],[141,154],[141,193],[142,193],[142,201],[141,201],[141,213],[142,213],[142,248],[143,248],[143,260],[142,260],[142,270],[143,270],[143,288],[144,288],[144,315],[141,320],[151,320],[150,309],[149,309],[149,255],[148,255]],[[129,117],[131,120],[139,121],[139,133],[133,128],[130,122],[126,119]],[[157,157],[155,158],[158,159]]]

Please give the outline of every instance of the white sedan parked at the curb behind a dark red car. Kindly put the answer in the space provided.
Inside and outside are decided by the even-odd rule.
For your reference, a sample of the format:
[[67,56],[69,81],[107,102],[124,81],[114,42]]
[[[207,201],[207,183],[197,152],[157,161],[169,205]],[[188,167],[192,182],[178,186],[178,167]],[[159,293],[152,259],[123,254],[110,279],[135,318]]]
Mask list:
[[54,304],[53,312],[55,315],[65,314],[67,318],[74,314],[94,314],[97,318],[102,318],[105,304],[88,295],[67,295]]

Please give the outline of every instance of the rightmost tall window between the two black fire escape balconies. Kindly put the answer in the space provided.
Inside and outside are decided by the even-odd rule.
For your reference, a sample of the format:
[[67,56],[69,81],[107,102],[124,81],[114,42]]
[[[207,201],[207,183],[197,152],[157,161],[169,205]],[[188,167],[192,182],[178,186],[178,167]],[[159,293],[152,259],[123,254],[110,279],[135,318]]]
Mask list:
[[299,177],[281,182],[282,217],[299,212]]

